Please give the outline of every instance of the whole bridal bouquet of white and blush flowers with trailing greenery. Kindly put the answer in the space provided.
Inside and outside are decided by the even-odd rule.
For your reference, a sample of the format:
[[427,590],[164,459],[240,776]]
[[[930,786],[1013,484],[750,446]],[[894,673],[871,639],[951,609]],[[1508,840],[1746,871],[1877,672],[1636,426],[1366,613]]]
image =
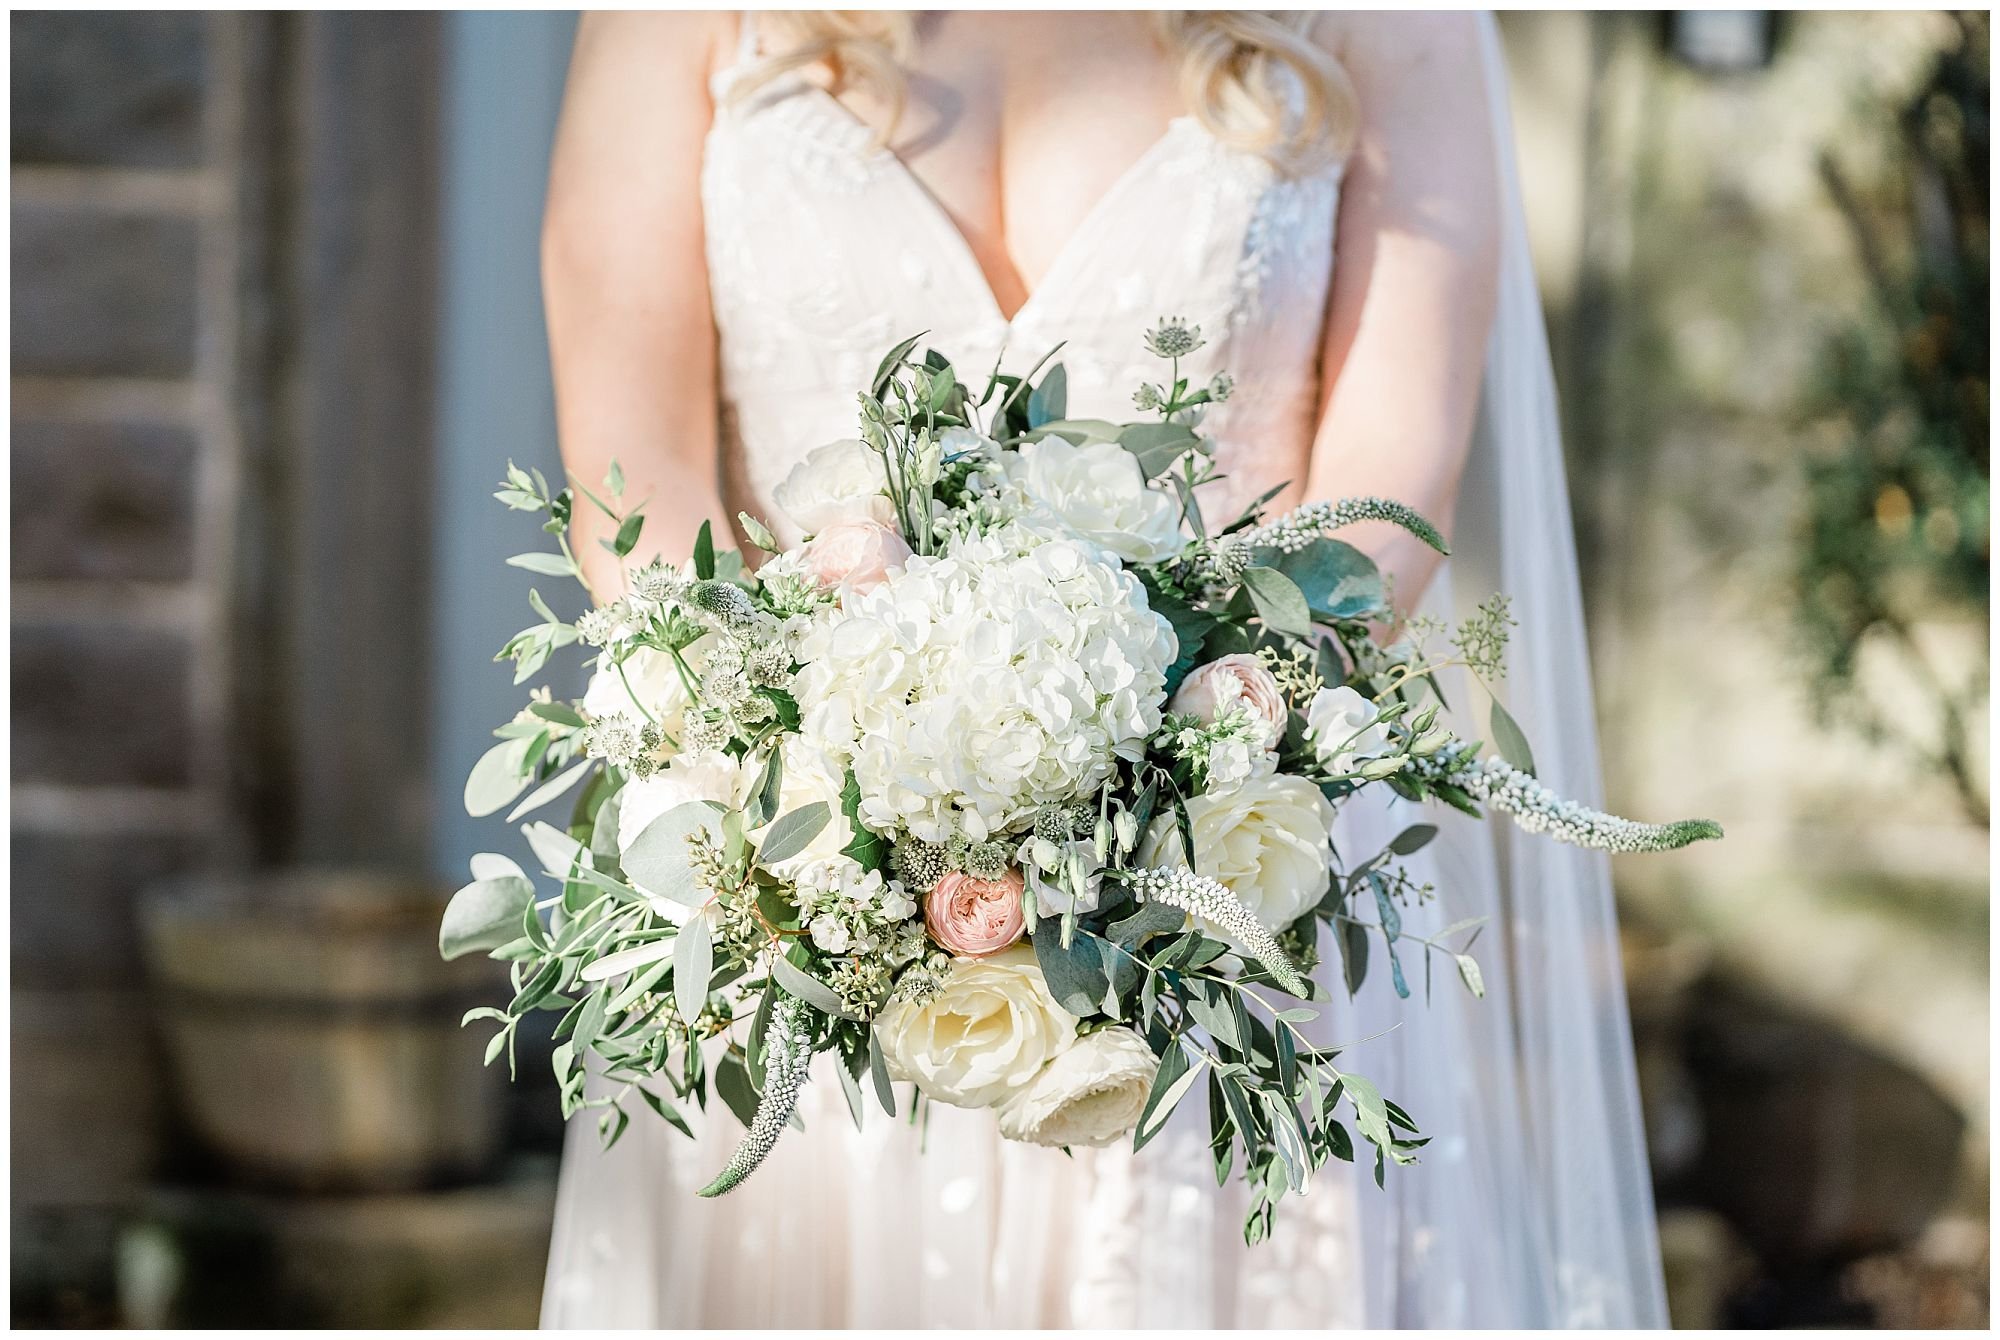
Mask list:
[[[1410,926],[1432,890],[1402,860],[1436,828],[1336,852],[1342,804],[1390,788],[1606,850],[1718,836],[1558,798],[1498,700],[1498,754],[1454,734],[1436,672],[1492,684],[1506,602],[1392,630],[1374,564],[1330,532],[1444,544],[1380,498],[1204,518],[1200,422],[1230,382],[1180,376],[1196,328],[1146,344],[1152,418],[1110,424],[1064,416],[1048,358],[974,394],[906,340],[860,436],[776,488],[802,544],[744,514],[754,570],[704,528],[686,566],[628,566],[574,624],[530,594],[540,622],[500,654],[516,682],[574,644],[596,672],[578,702],[532,694],[466,784],[510,822],[574,792],[566,822],[524,828],[550,884],[482,854],[444,916],[446,956],[512,964],[514,998],[466,1016],[498,1024],[488,1060],[560,1012],[564,1112],[604,1108],[606,1140],[632,1100],[686,1132],[680,1106],[714,1094],[746,1134],[704,1196],[758,1168],[818,1052],[856,1122],[868,1094],[944,1102],[1046,1146],[1140,1148],[1202,1086],[1256,1240],[1356,1140],[1376,1178],[1424,1144],[1300,1030],[1318,960],[1352,992],[1374,942],[1402,996],[1412,954],[1426,990],[1434,956],[1482,990],[1476,922]],[[644,524],[616,466],[600,492],[510,466],[498,498],[546,516],[558,552],[510,562],[548,576],[582,580],[574,508],[616,522],[620,560]]]

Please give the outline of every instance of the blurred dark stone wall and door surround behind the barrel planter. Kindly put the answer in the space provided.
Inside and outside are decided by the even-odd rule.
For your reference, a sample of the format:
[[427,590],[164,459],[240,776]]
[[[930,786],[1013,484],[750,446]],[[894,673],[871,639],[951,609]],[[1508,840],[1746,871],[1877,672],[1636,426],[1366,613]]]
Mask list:
[[10,24],[14,1294],[84,1320],[180,1156],[138,892],[422,852],[438,42]]

